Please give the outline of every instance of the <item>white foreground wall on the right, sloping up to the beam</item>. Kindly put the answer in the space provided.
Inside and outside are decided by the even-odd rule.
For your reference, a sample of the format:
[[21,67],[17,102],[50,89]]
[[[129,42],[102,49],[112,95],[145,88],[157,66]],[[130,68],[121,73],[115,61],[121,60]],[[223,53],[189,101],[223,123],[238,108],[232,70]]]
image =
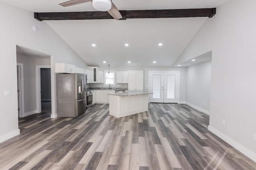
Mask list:
[[[202,25],[175,64],[212,50],[209,130],[256,161],[256,1],[231,0]],[[222,124],[222,119],[226,124]]]

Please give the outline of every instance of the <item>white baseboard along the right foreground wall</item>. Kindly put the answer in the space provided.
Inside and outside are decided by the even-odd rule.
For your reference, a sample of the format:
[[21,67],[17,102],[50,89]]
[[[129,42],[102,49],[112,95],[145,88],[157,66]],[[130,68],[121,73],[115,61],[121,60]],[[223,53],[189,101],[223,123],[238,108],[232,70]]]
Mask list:
[[244,147],[240,143],[236,142],[234,139],[228,137],[226,134],[220,132],[219,130],[217,130],[216,128],[210,125],[208,126],[208,130],[210,130],[211,132],[213,132],[214,134],[222,138],[225,142],[227,142],[228,144],[230,144],[231,146],[233,146],[234,148],[242,152],[244,155],[248,156],[254,162],[256,162],[256,153],[252,152],[248,148]]

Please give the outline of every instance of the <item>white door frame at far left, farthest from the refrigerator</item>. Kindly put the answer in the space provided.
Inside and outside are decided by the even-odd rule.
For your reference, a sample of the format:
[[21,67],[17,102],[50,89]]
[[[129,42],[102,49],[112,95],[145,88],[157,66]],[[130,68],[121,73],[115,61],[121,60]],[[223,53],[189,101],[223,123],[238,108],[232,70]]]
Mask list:
[[[23,63],[16,63],[16,65],[20,68],[19,69],[19,77],[17,77],[17,93],[18,93],[18,86],[20,86],[20,113],[19,117],[23,117],[25,113],[24,109],[24,69]],[[19,106],[19,103],[18,103]]]

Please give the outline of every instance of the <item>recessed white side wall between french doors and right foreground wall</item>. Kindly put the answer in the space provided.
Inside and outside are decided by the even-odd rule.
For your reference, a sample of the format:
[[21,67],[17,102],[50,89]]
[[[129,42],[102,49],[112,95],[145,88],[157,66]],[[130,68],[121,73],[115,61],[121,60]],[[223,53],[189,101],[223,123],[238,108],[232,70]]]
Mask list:
[[211,63],[206,61],[187,67],[186,102],[210,114]]

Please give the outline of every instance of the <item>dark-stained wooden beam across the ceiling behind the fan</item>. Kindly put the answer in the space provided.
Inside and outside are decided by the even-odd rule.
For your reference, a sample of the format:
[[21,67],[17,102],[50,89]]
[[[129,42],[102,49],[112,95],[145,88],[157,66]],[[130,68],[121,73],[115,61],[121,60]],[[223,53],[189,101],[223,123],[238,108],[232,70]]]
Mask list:
[[[216,14],[216,8],[175,9],[175,10],[132,10],[120,11],[123,18],[185,18],[209,17]],[[35,12],[34,18],[43,20],[99,20],[113,19],[108,12]]]

